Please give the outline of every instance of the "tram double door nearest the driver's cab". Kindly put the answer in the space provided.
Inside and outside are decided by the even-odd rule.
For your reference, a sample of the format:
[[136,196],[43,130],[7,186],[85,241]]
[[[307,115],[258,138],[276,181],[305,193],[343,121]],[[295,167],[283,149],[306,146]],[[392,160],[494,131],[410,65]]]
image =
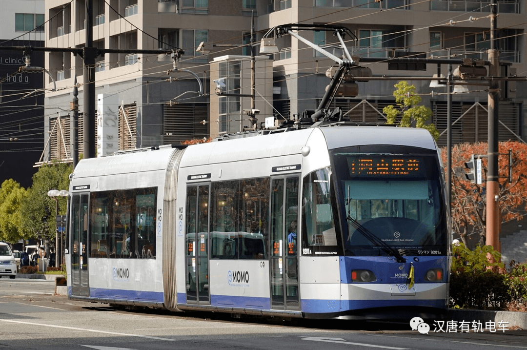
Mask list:
[[299,177],[271,181],[271,308],[300,310],[298,288]]

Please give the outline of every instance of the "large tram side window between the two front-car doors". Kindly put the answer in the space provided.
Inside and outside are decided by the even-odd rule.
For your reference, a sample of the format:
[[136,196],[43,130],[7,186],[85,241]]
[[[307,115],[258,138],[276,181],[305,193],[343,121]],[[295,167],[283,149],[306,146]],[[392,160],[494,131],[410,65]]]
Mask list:
[[212,183],[211,258],[266,259],[269,179]]

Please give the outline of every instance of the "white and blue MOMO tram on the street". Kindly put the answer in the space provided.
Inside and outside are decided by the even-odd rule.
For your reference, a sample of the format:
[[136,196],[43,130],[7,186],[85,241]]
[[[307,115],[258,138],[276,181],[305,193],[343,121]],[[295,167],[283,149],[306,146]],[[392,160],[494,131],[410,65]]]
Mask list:
[[446,310],[451,237],[428,131],[257,134],[80,161],[69,297],[306,318]]

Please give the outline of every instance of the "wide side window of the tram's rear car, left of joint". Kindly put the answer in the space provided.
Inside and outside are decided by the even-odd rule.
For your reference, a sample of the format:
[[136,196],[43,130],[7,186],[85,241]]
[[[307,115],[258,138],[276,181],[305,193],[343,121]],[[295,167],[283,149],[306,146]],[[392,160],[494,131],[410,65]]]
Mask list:
[[155,258],[157,189],[92,192],[90,256]]

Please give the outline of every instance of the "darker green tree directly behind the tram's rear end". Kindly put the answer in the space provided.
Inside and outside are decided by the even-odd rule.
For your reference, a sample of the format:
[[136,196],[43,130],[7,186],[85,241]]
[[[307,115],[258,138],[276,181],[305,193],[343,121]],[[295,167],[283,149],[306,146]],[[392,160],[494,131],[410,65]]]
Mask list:
[[[39,240],[54,239],[55,200],[47,196],[52,189],[63,190],[70,186],[69,175],[72,166],[64,163],[44,165],[33,176],[33,184],[27,190],[22,202],[22,226],[30,232],[30,238]],[[58,201],[59,215],[65,215],[66,200]]]

